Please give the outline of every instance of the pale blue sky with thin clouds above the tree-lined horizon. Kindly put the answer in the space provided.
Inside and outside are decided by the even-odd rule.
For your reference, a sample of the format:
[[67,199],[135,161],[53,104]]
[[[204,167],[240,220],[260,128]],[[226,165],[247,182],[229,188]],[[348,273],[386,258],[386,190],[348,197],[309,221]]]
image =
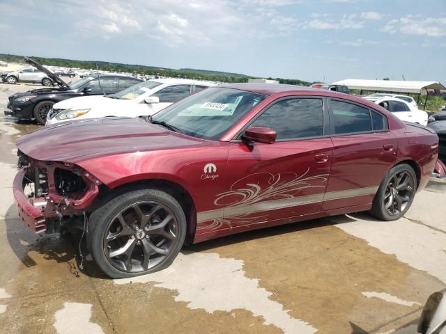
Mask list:
[[0,53],[446,84],[446,0],[0,0]]

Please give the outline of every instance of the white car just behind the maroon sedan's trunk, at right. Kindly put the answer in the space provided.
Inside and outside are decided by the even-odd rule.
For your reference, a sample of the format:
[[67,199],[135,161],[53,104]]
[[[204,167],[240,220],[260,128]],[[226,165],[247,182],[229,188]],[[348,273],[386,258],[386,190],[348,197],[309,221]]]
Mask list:
[[[367,97],[364,97],[366,100]],[[412,104],[408,104],[408,102],[403,101],[401,99],[397,99],[396,97],[383,97],[379,100],[371,100],[376,104],[379,104],[384,109],[387,109],[394,116],[397,116],[400,120],[406,120],[408,122],[418,123],[421,125],[427,125],[427,118],[429,117],[426,111],[422,111]]]

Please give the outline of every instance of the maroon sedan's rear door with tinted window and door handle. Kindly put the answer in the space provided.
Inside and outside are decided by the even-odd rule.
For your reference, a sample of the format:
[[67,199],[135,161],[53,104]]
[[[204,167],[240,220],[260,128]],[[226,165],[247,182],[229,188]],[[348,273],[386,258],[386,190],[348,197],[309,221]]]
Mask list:
[[333,157],[323,209],[369,205],[397,159],[387,118],[354,102],[329,99]]

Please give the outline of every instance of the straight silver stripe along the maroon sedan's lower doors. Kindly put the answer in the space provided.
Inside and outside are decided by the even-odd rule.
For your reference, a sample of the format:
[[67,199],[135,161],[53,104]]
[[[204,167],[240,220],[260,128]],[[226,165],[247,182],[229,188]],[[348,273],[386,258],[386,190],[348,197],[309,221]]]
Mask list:
[[364,195],[374,195],[378,191],[378,186],[369,186],[367,188],[348,189],[342,191],[331,191],[330,193],[318,193],[309,196],[297,196],[286,198],[284,200],[267,200],[265,202],[254,202],[250,205],[229,206],[224,209],[209,210],[197,212],[197,223],[220,219],[224,217],[231,218],[234,216],[246,216],[249,214],[266,212],[275,209],[283,209],[285,207],[295,207],[299,205],[312,204],[322,202],[323,200],[339,200],[342,198],[352,198]]

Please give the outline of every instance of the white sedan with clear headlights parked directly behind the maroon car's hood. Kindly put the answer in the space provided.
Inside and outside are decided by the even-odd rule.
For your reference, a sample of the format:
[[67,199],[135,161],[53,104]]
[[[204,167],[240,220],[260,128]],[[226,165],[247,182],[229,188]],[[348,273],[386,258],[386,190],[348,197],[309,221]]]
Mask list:
[[188,79],[153,79],[113,95],[74,97],[54,104],[45,125],[108,116],[148,116],[210,86],[215,84]]

